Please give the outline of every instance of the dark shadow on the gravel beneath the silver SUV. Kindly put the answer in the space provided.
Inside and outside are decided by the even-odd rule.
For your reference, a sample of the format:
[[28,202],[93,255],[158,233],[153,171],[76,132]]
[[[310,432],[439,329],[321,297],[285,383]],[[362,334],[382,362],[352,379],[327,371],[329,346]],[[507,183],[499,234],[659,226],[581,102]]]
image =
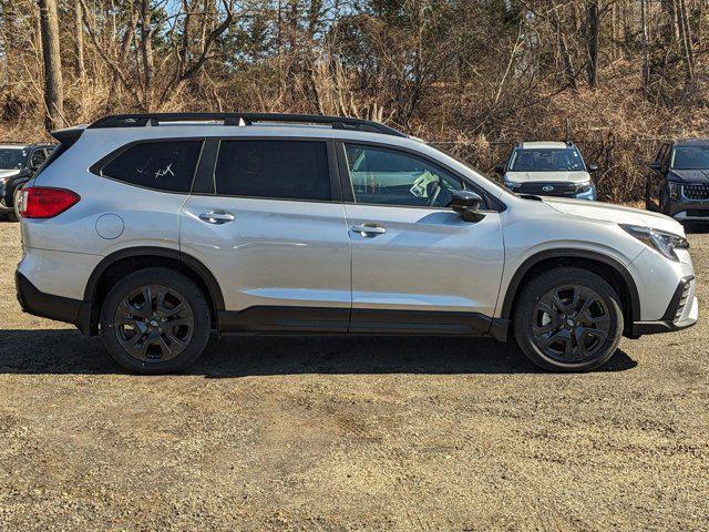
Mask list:
[[[598,371],[637,366],[625,351]],[[280,336],[212,338],[182,375],[230,378],[267,375],[536,374],[513,344],[491,338]],[[99,338],[73,329],[0,330],[0,374],[125,374]]]

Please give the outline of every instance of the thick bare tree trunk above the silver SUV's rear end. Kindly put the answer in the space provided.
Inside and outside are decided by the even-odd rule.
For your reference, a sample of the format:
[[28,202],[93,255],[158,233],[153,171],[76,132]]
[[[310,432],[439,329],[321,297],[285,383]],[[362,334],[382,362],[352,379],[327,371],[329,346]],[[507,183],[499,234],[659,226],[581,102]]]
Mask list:
[[47,113],[44,123],[48,130],[58,130],[64,125],[64,92],[56,0],[39,0],[39,7],[44,62],[44,106]]

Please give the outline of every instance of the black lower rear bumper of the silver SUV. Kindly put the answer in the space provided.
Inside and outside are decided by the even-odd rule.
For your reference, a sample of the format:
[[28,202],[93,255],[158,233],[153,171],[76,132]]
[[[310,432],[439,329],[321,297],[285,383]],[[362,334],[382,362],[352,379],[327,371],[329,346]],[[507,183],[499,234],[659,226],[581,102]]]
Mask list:
[[89,330],[90,307],[84,301],[44,294],[19,272],[14,273],[14,287],[24,313],[75,325],[84,334]]

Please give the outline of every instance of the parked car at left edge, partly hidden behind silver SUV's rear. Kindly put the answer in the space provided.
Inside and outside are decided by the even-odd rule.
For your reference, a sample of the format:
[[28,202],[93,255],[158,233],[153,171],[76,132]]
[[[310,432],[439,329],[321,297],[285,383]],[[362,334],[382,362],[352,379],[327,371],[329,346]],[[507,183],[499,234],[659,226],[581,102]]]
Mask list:
[[20,191],[53,149],[53,144],[0,144],[0,214],[19,219]]

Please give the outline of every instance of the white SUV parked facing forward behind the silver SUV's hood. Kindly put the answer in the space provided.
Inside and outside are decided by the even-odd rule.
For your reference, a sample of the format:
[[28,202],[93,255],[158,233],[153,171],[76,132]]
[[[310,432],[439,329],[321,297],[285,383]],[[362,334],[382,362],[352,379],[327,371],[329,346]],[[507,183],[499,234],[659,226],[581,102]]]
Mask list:
[[523,142],[505,164],[495,166],[512,192],[592,201],[596,185],[590,174],[597,171],[572,142]]

